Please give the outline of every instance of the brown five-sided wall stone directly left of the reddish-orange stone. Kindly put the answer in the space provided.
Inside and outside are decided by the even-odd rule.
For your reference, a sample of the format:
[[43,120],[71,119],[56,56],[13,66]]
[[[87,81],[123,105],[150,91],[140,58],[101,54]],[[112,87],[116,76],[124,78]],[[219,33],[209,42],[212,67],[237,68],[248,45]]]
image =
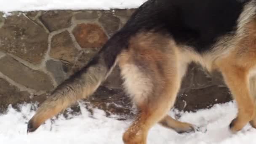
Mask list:
[[52,37],[51,51],[49,53],[52,58],[73,64],[78,53],[68,31]]

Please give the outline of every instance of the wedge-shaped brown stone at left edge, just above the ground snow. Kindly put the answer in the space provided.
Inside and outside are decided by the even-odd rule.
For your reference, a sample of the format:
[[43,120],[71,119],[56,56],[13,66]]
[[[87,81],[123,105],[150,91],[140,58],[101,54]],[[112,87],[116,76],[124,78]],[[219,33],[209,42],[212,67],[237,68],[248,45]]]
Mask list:
[[3,112],[9,104],[23,103],[29,101],[30,94],[27,91],[20,91],[3,78],[0,78],[0,112]]

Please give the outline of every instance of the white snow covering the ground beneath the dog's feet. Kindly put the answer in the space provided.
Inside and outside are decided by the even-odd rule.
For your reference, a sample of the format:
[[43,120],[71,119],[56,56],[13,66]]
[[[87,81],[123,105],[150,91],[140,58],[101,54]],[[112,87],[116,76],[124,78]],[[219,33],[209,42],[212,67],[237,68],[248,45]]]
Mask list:
[[[24,104],[20,112],[8,108],[0,115],[1,144],[122,144],[122,134],[131,120],[116,120],[116,115],[105,117],[103,111],[94,109],[94,115],[80,104],[81,115],[63,115],[47,120],[34,133],[27,134],[27,121],[35,113],[35,104]],[[35,109],[35,108],[34,108]],[[217,104],[211,109],[195,113],[170,111],[170,115],[181,115],[179,120],[201,126],[202,131],[178,134],[156,124],[148,136],[148,144],[256,144],[256,130],[249,124],[237,134],[229,131],[228,125],[237,113],[236,104]],[[205,131],[207,129],[207,131]]]

